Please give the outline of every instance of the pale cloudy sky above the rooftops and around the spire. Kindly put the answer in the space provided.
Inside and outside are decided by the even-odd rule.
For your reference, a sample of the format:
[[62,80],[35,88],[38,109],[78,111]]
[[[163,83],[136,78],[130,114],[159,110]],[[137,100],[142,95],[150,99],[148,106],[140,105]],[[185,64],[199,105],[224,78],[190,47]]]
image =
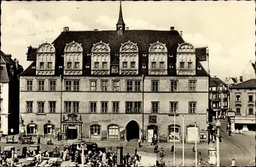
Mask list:
[[[53,42],[65,26],[70,31],[115,30],[119,1],[2,1],[1,10],[1,50],[27,68],[32,63],[26,61],[28,47]],[[211,76],[225,79],[252,71],[254,1],[123,1],[122,12],[130,30],[175,26],[186,42],[208,46]]]

